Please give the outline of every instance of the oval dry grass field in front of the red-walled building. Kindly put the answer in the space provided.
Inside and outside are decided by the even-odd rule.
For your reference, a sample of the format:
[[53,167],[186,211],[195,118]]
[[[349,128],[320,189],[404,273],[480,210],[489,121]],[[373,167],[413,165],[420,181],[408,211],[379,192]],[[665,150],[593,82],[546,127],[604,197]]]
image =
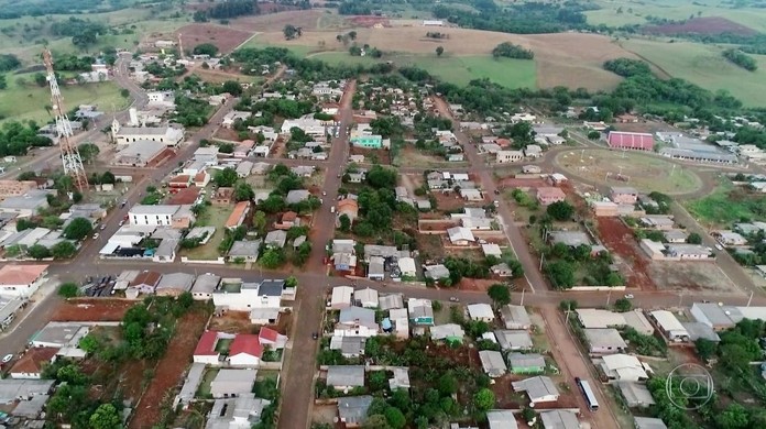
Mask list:
[[[687,194],[702,186],[702,180],[689,168],[635,152],[567,151],[556,156],[556,164],[568,174],[594,184],[632,186],[646,193]],[[617,180],[621,173],[628,180]]]

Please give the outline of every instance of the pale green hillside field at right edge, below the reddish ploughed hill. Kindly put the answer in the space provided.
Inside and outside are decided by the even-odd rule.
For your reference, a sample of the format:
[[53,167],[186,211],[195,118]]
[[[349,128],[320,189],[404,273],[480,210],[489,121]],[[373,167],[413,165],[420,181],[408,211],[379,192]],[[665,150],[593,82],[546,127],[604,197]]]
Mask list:
[[766,106],[766,55],[753,55],[758,69],[747,72],[721,56],[721,47],[701,43],[667,43],[643,38],[619,42],[674,77],[711,90],[725,89],[748,107]]

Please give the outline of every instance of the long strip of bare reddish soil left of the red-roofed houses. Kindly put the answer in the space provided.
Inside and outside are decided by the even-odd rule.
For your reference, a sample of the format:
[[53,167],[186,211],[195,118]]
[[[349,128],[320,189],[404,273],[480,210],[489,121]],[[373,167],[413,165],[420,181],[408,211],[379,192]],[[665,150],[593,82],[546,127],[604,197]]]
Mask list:
[[152,425],[160,421],[163,403],[173,399],[174,388],[186,371],[207,320],[207,312],[200,310],[188,312],[178,319],[176,336],[167,345],[165,355],[154,371],[149,388],[135,407],[135,415],[130,421],[130,428],[151,428]]

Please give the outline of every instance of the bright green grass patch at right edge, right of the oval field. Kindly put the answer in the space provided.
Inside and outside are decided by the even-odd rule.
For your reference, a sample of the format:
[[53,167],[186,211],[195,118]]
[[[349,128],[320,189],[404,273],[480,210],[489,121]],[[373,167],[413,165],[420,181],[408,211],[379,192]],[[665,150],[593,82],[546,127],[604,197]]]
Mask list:
[[686,208],[703,226],[730,228],[745,219],[760,220],[766,210],[766,197],[747,193],[722,179],[712,194],[688,201]]

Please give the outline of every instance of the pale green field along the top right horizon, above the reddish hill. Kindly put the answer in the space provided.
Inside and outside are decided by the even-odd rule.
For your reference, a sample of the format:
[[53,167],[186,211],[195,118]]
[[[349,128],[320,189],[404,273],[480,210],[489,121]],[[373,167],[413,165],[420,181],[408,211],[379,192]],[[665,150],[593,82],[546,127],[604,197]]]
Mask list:
[[[763,9],[737,8],[723,4],[723,1],[707,1],[705,6],[687,0],[597,0],[602,9],[584,12],[588,23],[622,26],[647,24],[646,16],[660,16],[668,20],[685,20],[702,12],[701,16],[721,16],[753,30],[766,32]],[[622,8],[622,13],[617,10]]]

